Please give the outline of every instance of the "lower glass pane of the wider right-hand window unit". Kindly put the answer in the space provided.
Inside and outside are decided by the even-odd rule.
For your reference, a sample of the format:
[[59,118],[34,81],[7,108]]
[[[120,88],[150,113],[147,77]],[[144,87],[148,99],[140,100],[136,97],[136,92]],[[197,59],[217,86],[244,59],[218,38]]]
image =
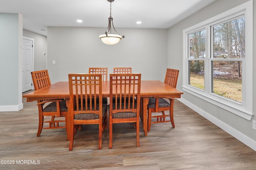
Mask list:
[[212,92],[242,103],[242,61],[212,62]]

